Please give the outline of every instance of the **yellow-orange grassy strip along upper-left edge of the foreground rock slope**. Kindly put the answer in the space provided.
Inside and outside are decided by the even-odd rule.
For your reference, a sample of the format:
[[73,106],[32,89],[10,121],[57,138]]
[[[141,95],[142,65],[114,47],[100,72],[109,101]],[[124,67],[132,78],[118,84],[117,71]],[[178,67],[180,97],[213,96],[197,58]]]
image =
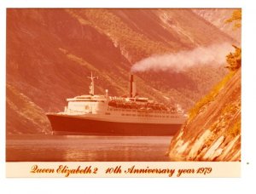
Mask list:
[[215,85],[212,88],[212,91],[204,96],[201,100],[199,100],[195,106],[189,111],[189,121],[192,121],[198,113],[202,110],[202,107],[210,103],[214,98],[218,95],[219,91],[224,88],[224,85],[228,83],[231,77],[233,77],[235,74],[235,71],[230,71],[230,73],[224,77],[224,79],[219,82],[217,85]]

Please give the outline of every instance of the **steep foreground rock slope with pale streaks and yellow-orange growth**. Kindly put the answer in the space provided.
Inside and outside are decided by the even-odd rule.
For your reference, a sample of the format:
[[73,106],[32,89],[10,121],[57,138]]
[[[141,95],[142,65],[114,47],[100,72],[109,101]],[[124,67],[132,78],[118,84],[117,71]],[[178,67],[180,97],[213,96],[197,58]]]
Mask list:
[[240,161],[241,70],[231,72],[190,111],[172,139],[169,157],[177,161]]

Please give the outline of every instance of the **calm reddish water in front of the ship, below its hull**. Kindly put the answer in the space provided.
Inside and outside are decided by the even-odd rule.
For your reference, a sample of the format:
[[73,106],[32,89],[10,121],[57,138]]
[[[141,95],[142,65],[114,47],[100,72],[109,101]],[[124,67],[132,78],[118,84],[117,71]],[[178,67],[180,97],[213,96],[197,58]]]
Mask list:
[[172,137],[12,135],[7,162],[169,161]]

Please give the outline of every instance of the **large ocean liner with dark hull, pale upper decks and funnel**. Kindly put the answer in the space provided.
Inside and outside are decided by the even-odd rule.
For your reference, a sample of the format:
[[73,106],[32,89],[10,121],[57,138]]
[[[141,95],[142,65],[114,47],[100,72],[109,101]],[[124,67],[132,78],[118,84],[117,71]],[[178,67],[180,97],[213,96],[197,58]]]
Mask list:
[[126,97],[94,94],[91,74],[90,92],[67,99],[65,110],[47,113],[53,134],[168,136],[181,128],[183,110],[137,96],[133,75]]

